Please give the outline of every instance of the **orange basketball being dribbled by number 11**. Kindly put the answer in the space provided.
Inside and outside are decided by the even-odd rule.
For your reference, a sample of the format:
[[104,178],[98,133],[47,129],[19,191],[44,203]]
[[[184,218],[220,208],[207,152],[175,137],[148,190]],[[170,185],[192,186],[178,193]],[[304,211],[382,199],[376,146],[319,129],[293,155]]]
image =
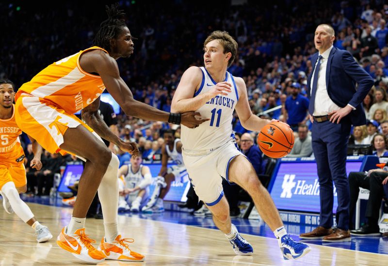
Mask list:
[[271,122],[265,125],[258,136],[260,150],[271,158],[286,156],[294,146],[294,133],[282,122]]

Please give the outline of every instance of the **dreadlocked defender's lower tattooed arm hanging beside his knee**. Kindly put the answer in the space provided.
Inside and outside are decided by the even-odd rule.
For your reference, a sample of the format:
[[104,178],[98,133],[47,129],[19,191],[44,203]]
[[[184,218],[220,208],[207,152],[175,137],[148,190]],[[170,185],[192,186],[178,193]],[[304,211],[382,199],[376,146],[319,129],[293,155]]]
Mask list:
[[88,124],[100,137],[114,143],[118,148],[128,151],[132,156],[139,153],[139,149],[135,142],[124,142],[116,134],[114,134],[98,114],[98,107],[100,106],[100,98],[98,97],[91,104],[86,106],[81,111],[82,119]]

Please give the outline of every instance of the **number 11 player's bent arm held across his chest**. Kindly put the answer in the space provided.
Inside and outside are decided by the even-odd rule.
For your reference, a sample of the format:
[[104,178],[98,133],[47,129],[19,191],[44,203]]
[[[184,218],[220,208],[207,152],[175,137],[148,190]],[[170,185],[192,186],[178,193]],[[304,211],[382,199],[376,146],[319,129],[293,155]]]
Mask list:
[[231,92],[230,83],[220,82],[214,85],[210,91],[194,97],[194,93],[200,88],[201,83],[202,70],[196,66],[189,67],[180,79],[171,103],[171,111],[178,113],[196,111],[216,95],[227,95]]

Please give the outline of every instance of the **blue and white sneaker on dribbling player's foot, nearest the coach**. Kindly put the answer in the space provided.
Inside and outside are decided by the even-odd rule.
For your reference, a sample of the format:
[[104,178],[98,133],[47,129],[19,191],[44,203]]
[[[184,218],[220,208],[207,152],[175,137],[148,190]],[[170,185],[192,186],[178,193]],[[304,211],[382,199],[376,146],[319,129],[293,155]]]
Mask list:
[[280,239],[278,238],[280,249],[282,251],[283,259],[299,259],[310,252],[310,246],[292,240],[289,234],[283,235]]

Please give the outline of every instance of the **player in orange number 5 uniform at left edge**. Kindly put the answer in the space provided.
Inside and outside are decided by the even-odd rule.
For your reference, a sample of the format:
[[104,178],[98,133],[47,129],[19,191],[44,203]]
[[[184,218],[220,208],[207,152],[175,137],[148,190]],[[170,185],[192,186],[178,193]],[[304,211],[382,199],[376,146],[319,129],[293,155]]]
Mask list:
[[[35,219],[30,208],[19,197],[19,193],[27,190],[27,178],[24,151],[19,140],[21,130],[15,121],[14,88],[11,81],[0,80],[0,194],[5,211],[9,214],[15,212],[31,226],[36,232],[36,240],[41,243],[50,240],[52,234]],[[40,170],[42,147],[35,140],[31,141],[34,154],[31,166]]]

